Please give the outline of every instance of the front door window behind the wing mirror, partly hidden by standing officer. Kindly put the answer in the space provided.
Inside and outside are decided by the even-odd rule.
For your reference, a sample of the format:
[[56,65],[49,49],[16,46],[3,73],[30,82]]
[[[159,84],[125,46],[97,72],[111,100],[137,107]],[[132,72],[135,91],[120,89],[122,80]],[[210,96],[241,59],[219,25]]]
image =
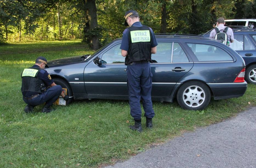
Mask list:
[[107,62],[107,64],[124,64],[125,57],[121,54],[121,44],[117,44],[105,52],[101,59]]

